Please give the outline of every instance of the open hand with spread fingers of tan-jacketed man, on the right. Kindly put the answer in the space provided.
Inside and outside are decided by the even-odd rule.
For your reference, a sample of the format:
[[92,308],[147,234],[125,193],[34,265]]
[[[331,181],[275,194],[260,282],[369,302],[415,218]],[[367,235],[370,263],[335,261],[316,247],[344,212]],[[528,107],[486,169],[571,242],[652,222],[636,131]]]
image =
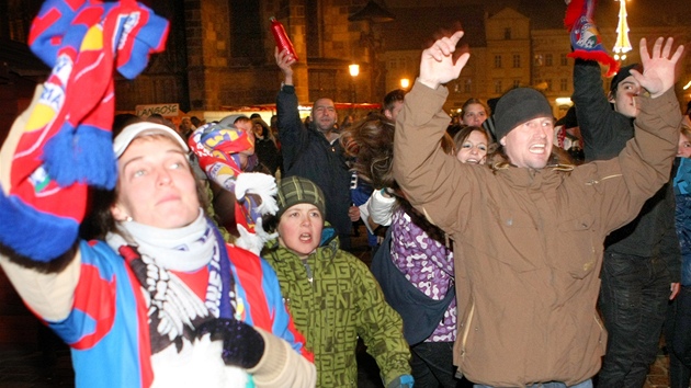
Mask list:
[[643,73],[632,69],[631,75],[641,83],[641,87],[650,93],[650,96],[655,99],[664,94],[669,88],[675,85],[675,70],[677,61],[681,58],[683,53],[683,46],[679,45],[675,50],[671,58],[669,57],[675,39],[668,37],[662,43],[664,37],[658,37],[653,45],[653,55],[648,54],[647,41],[641,39],[641,61],[643,62]]

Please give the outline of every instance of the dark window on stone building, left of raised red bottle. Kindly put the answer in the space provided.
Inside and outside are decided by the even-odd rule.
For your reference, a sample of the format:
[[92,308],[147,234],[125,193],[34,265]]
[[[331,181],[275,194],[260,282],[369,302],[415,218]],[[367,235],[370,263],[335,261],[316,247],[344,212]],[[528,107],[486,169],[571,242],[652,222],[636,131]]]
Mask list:
[[256,0],[230,0],[230,56],[264,60],[263,23]]

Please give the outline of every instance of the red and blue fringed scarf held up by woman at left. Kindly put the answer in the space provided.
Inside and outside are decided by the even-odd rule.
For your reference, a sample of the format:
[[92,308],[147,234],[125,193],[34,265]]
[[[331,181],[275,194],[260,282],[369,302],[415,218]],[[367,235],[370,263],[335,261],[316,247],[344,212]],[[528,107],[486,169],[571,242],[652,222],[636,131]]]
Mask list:
[[[0,195],[0,243],[47,262],[75,242],[87,185],[113,189],[113,70],[135,78],[161,52],[168,21],[134,0],[48,0],[35,18],[31,49],[53,68],[15,125],[9,196]],[[19,123],[19,124],[18,124]],[[48,230],[49,232],[46,232]]]

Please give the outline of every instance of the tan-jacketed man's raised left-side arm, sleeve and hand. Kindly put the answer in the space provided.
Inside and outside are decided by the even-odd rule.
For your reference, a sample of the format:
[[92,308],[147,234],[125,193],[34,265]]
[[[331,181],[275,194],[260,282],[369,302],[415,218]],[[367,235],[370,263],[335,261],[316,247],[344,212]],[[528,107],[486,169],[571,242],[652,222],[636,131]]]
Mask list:
[[420,77],[406,94],[394,137],[394,178],[408,201],[434,225],[449,232],[458,221],[450,204],[469,193],[468,166],[441,149],[440,142],[451,118],[443,111],[449,91],[443,83],[458,77],[469,54],[454,61],[456,32],[438,39],[422,52]]

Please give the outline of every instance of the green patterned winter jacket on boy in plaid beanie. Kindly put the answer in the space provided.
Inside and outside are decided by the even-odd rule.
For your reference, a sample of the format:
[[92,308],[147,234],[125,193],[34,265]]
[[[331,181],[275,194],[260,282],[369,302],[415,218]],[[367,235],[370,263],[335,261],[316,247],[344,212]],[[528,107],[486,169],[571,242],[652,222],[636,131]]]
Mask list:
[[277,240],[268,243],[262,256],[276,271],[295,327],[315,354],[317,387],[358,386],[358,336],[386,386],[410,374],[403,321],[367,266],[338,247],[335,229],[325,226],[321,246],[304,263]]

